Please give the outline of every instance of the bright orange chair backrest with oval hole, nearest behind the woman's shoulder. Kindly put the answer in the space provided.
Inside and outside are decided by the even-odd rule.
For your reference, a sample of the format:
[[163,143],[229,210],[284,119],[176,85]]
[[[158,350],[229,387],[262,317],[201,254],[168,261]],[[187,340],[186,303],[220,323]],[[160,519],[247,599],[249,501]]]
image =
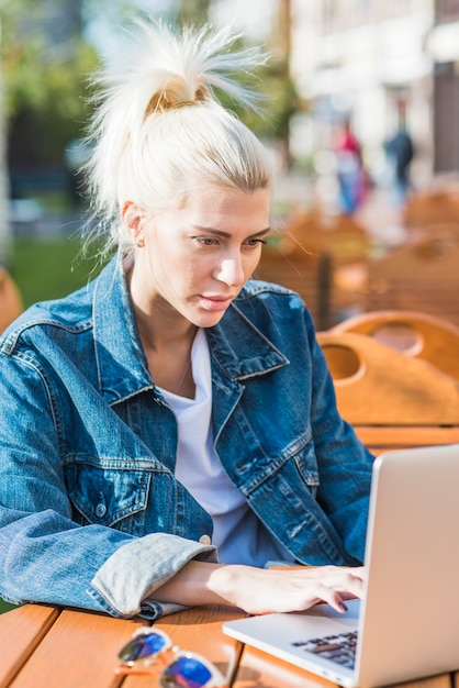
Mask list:
[[355,425],[457,425],[459,385],[365,334],[318,332],[338,409]]

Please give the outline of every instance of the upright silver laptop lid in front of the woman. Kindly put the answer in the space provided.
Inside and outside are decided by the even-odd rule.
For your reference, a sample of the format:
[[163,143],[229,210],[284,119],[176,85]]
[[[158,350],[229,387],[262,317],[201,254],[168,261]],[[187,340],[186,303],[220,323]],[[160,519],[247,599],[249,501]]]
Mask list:
[[459,445],[377,458],[358,684],[459,668]]

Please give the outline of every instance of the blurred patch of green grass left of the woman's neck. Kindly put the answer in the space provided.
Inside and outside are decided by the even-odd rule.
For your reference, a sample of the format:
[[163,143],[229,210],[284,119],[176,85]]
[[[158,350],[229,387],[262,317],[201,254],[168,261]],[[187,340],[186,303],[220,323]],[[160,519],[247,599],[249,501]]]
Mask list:
[[56,299],[86,285],[96,260],[81,259],[79,238],[16,238],[10,271],[24,308],[36,301]]

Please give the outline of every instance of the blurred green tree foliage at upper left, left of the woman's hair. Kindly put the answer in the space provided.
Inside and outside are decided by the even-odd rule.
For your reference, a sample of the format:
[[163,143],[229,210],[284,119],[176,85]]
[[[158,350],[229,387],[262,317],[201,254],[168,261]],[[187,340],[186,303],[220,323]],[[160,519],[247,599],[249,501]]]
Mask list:
[[65,147],[87,121],[86,77],[98,60],[81,37],[79,0],[1,0],[0,26],[0,263],[7,263],[8,163],[64,167]]

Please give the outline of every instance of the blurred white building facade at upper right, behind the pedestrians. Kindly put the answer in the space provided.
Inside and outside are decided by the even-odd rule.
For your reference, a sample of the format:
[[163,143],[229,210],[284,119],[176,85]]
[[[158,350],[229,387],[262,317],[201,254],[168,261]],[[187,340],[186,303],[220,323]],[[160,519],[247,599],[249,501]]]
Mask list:
[[351,122],[370,170],[405,115],[415,186],[459,173],[459,0],[291,0],[291,74],[305,103],[293,155]]

